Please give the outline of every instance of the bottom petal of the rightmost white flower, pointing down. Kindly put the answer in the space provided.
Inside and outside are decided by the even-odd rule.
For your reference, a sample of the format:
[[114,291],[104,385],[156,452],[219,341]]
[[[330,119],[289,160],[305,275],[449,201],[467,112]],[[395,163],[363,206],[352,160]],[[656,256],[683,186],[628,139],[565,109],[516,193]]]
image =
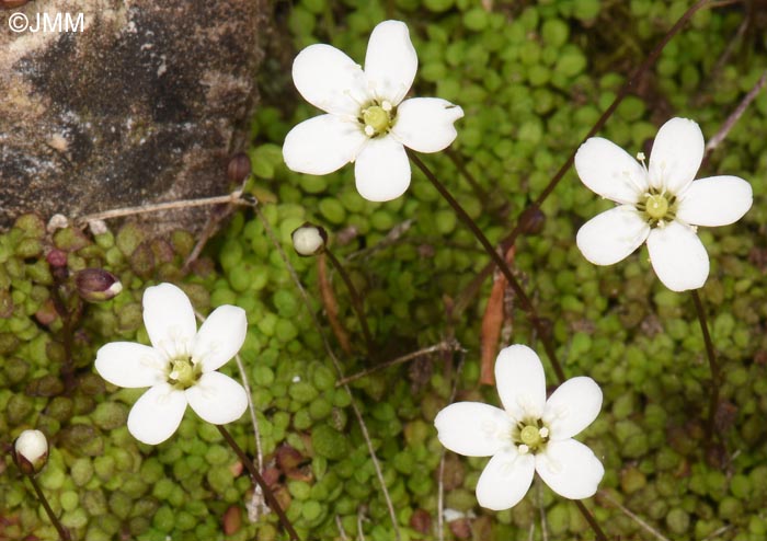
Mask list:
[[648,238],[650,263],[672,291],[698,289],[709,275],[709,256],[691,227],[673,221]]

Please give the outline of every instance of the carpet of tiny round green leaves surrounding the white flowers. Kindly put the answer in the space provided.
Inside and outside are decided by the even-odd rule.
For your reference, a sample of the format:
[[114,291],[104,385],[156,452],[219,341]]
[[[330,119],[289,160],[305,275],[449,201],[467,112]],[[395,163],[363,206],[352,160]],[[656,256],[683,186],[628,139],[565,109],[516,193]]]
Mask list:
[[[414,94],[449,100],[466,112],[453,148],[477,177],[473,189],[445,154],[423,159],[492,241],[507,234],[645,58],[689,7],[685,1],[549,0],[470,2],[396,0],[277,4],[274,39],[262,72],[263,101],[252,124],[249,191],[288,251],[325,326],[345,375],[455,338],[463,352],[440,353],[375,372],[351,384],[368,427],[403,540],[435,539],[443,448],[432,421],[457,384],[457,400],[497,403],[480,387],[480,321],[490,291],[466,288],[488,263],[426,180],[413,172],[401,198],[368,203],[356,193],[353,168],[327,176],[288,171],[281,145],[298,122],[318,114],[295,92],[295,51],[331,43],[362,64],[373,27],[405,21],[419,54]],[[765,21],[753,2],[703,9],[666,47],[656,65],[600,133],[630,153],[643,150],[672,116],[697,120],[710,138],[767,68]],[[489,9],[489,5],[492,5]],[[745,31],[739,28],[746,21]],[[603,388],[597,421],[579,439],[603,460],[602,493],[588,500],[617,539],[652,539],[613,500],[673,540],[763,540],[767,534],[767,95],[752,104],[700,176],[719,173],[752,182],[754,207],[734,226],[703,229],[711,258],[702,297],[722,364],[718,445],[706,452],[709,370],[689,295],[668,291],[642,249],[611,267],[595,267],[577,251],[577,228],[609,202],[569,172],[543,205],[539,230],[517,241],[515,268],[541,316],[551,322],[569,377],[587,375]],[[324,226],[365,309],[378,352],[367,359],[358,321],[340,277],[330,270],[339,319],[353,353],[332,336],[320,300],[317,260],[290,251],[290,232],[305,220]],[[392,235],[392,230],[398,234]],[[241,352],[253,391],[267,463],[288,516],[304,539],[393,539],[386,502],[350,404],[313,326],[309,309],[263,223],[238,211],[206,256],[182,270],[195,239],[175,232],[148,240],[134,225],[96,237],[76,230],[46,235],[43,222],[22,218],[0,235],[0,434],[10,444],[38,427],[51,441],[39,475],[54,508],[77,539],[225,539],[222,517],[233,506],[242,526],[226,539],[283,539],[271,514],[247,518],[251,482],[236,475],[234,454],[218,431],[187,412],[167,442],[138,444],[125,421],[142,390],[115,389],[92,369],[110,341],[147,341],[140,299],[147,285],[183,285],[208,313],[233,303],[248,312]],[[75,333],[78,384],[64,392],[61,321],[50,314],[53,277],[43,254],[68,253],[70,270],[90,266],[119,276],[116,299],[88,306]],[[46,312],[47,310],[47,312]],[[513,312],[512,343],[536,345],[526,315]],[[543,357],[547,371],[549,366]],[[458,367],[461,367],[458,370]],[[237,366],[224,369],[238,377]],[[549,373],[549,381],[554,381]],[[254,454],[248,416],[230,429]],[[281,446],[296,463],[270,462]],[[282,447],[285,449],[285,447]],[[295,457],[294,457],[295,458]],[[473,490],[485,459],[447,453],[445,507],[472,511],[468,530],[445,539],[593,539],[568,500],[536,482],[515,508],[481,509]],[[4,471],[2,471],[4,470]],[[0,462],[0,539],[56,539],[28,484],[10,459]],[[538,487],[537,485],[541,486]],[[463,525],[466,526],[466,525]],[[710,538],[712,532],[719,532]]]

